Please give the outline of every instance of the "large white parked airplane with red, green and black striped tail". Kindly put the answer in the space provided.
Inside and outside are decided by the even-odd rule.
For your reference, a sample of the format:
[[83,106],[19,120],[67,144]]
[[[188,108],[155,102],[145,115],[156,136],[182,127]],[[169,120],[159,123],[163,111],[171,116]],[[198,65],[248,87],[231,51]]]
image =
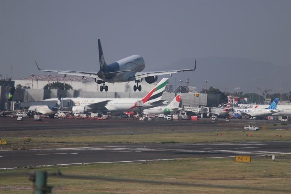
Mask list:
[[[70,99],[75,106],[72,107],[72,112],[126,112],[139,111],[137,102],[142,101],[143,109],[148,109],[163,105],[162,94],[165,91],[169,78],[163,78],[154,89],[152,89],[144,98],[64,98]],[[50,99],[52,100],[52,99]]]

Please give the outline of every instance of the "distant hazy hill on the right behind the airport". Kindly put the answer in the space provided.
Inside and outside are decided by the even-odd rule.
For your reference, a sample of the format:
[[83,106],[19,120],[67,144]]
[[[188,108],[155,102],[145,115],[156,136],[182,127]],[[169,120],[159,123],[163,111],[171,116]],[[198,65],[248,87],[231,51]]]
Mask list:
[[[166,69],[189,69],[194,67],[195,58],[185,58],[166,67]],[[165,70],[159,68],[156,70]],[[291,91],[291,66],[279,67],[270,62],[227,58],[227,57],[206,57],[196,58],[196,70],[194,72],[183,72],[173,74],[170,84],[178,86],[179,80],[183,82],[189,77],[190,84],[197,87],[200,91],[205,87],[205,79],[207,88],[216,86],[220,90],[226,87],[228,92],[234,92],[235,87],[240,88],[240,92],[258,92],[257,87],[264,89],[273,89],[270,93],[278,92],[280,82],[282,81],[283,92]],[[159,76],[162,78],[162,76]]]

